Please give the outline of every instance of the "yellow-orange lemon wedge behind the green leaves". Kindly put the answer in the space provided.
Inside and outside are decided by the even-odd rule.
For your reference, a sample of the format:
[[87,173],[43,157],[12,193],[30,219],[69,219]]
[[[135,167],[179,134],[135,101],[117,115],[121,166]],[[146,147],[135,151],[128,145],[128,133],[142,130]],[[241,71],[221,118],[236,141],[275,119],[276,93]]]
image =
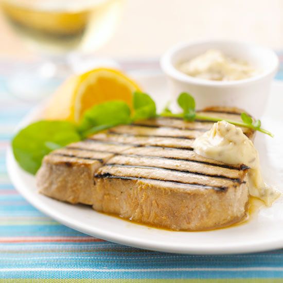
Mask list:
[[122,100],[132,107],[135,91],[140,91],[139,86],[118,70],[94,69],[67,79],[51,97],[44,118],[78,122],[85,110],[109,100]]

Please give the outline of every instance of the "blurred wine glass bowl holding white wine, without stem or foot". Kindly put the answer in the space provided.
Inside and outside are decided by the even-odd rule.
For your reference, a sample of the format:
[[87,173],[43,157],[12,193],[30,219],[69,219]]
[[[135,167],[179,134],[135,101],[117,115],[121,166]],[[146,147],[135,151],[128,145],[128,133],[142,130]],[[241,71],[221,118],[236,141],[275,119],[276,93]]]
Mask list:
[[112,36],[122,6],[123,0],[1,1],[14,31],[49,54],[96,50]]

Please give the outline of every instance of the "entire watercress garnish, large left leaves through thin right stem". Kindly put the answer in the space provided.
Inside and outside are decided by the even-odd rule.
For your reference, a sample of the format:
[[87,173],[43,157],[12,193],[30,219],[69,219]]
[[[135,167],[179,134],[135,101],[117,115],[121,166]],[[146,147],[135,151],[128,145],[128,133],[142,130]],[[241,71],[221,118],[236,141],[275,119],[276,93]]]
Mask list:
[[[273,137],[271,132],[261,128],[260,120],[254,121],[246,113],[241,114],[242,121],[201,115],[196,112],[196,102],[188,93],[180,94],[178,104],[183,109],[182,113],[172,113],[168,104],[159,116],[181,117],[187,121],[217,122],[225,120],[236,126],[250,128]],[[31,123],[14,136],[12,140],[13,153],[16,161],[24,170],[35,174],[41,166],[43,157],[52,150],[117,125],[156,116],[156,107],[152,98],[148,94],[135,92],[132,111],[126,102],[113,100],[95,105],[87,110],[78,125],[68,121],[45,120]]]

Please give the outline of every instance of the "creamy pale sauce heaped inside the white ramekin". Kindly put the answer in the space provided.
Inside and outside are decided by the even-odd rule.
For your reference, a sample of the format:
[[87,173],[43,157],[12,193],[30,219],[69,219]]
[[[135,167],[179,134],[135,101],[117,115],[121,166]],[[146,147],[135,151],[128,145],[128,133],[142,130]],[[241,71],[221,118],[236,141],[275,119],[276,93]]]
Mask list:
[[244,60],[227,57],[215,49],[181,63],[179,70],[191,77],[216,81],[242,80],[258,74],[258,70]]

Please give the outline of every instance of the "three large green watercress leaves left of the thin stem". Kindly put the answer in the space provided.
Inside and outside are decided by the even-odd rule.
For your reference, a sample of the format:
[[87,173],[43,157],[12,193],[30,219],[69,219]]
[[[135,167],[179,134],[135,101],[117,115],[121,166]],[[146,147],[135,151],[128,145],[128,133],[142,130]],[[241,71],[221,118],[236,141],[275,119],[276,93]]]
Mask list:
[[145,93],[133,94],[132,109],[124,101],[112,100],[87,110],[78,125],[68,121],[46,120],[31,123],[12,140],[15,159],[24,170],[36,174],[43,157],[52,150],[117,125],[156,116],[155,103]]

